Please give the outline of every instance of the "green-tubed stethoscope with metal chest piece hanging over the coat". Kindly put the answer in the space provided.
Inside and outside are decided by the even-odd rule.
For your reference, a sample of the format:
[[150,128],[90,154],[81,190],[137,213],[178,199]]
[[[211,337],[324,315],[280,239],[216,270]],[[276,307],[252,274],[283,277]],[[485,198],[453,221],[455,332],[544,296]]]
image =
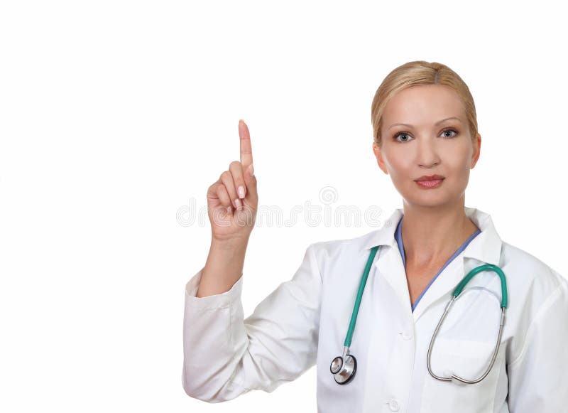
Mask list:
[[[332,375],[335,379],[335,382],[337,382],[337,384],[339,384],[339,385],[346,385],[351,380],[353,380],[353,377],[355,377],[355,373],[357,371],[357,360],[356,360],[354,355],[349,354],[349,346],[351,345],[351,338],[353,337],[353,331],[355,329],[355,323],[357,321],[357,314],[359,313],[359,306],[361,305],[361,297],[363,296],[363,291],[364,291],[365,285],[367,283],[368,273],[369,273],[369,271],[371,271],[371,264],[373,263],[373,259],[375,258],[377,250],[378,250],[378,245],[376,247],[371,248],[371,254],[369,254],[367,264],[366,264],[365,270],[363,272],[363,277],[361,277],[361,282],[359,283],[359,291],[357,291],[357,297],[355,299],[355,305],[354,305],[354,308],[353,308],[353,313],[351,313],[351,322],[349,323],[349,329],[347,330],[347,336],[345,337],[345,341],[343,343],[343,346],[344,346],[343,347],[343,354],[334,358],[332,360],[332,364],[329,366],[329,370],[332,372]],[[486,369],[486,371],[484,372],[484,374],[482,374],[476,380],[466,380],[463,377],[459,377],[459,375],[454,375],[454,374],[452,374],[451,377],[441,377],[441,376],[435,375],[434,372],[432,372],[432,367],[430,365],[430,355],[432,354],[432,347],[434,346],[434,342],[435,342],[436,336],[438,334],[439,328],[442,326],[442,322],[446,318],[449,310],[452,308],[454,301],[456,301],[459,294],[461,294],[461,291],[464,290],[464,287],[466,286],[466,284],[476,274],[479,274],[479,272],[482,272],[482,271],[496,272],[498,274],[499,278],[501,278],[501,323],[499,324],[499,334],[498,334],[498,337],[497,337],[497,343],[496,343],[495,349],[493,350],[493,355],[491,356],[491,363],[490,363],[489,367]],[[428,348],[428,355],[427,355],[427,362],[426,362],[427,367],[428,367],[428,372],[430,372],[430,375],[437,380],[443,380],[443,381],[450,381],[451,382],[452,380],[455,379],[455,380],[459,380],[460,382],[463,382],[463,383],[466,383],[466,384],[474,384],[474,383],[477,383],[477,382],[481,382],[481,380],[484,380],[484,378],[491,371],[491,368],[493,368],[493,364],[495,363],[495,360],[497,358],[499,346],[501,345],[501,336],[503,335],[503,326],[505,326],[506,309],[507,309],[507,281],[506,281],[506,278],[505,278],[505,274],[503,274],[503,271],[501,270],[501,268],[499,268],[499,267],[497,267],[496,265],[493,265],[493,264],[484,264],[484,265],[480,265],[479,267],[475,267],[474,269],[472,269],[466,275],[466,277],[464,277],[464,279],[462,279],[459,282],[456,289],[454,289],[454,293],[452,294],[452,299],[450,299],[449,303],[446,305],[446,308],[444,309],[444,313],[442,314],[442,317],[439,319],[438,325],[436,326],[434,334],[432,335],[432,340],[430,340],[430,347]]]

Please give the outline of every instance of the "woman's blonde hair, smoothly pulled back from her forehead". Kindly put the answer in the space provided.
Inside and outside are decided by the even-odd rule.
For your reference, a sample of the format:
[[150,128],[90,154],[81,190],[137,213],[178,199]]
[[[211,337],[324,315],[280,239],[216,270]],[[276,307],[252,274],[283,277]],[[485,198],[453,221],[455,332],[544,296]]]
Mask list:
[[417,85],[444,85],[451,87],[457,92],[461,102],[464,104],[471,139],[475,139],[477,135],[477,115],[474,98],[469,92],[469,87],[454,70],[446,65],[416,60],[395,68],[385,77],[375,93],[373,103],[371,104],[371,124],[373,124],[373,141],[375,144],[381,146],[383,111],[387,102],[400,90]]

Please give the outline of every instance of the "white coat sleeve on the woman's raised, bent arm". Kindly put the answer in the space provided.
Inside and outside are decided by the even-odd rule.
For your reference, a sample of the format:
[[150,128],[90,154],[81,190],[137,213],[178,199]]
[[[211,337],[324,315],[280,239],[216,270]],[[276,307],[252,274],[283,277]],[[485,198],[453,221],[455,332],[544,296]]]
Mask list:
[[313,244],[293,278],[246,319],[242,274],[229,291],[196,297],[202,271],[185,291],[182,385],[187,395],[217,403],[250,390],[273,392],[315,365],[322,277]]

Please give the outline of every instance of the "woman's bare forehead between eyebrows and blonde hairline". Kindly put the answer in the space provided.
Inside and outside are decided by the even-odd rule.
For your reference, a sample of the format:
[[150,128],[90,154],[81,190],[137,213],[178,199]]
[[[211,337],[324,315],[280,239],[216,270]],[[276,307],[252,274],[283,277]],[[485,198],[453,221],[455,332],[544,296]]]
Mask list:
[[396,122],[432,124],[452,116],[465,122],[464,105],[451,87],[418,85],[400,90],[387,102],[383,111],[383,125],[388,127]]

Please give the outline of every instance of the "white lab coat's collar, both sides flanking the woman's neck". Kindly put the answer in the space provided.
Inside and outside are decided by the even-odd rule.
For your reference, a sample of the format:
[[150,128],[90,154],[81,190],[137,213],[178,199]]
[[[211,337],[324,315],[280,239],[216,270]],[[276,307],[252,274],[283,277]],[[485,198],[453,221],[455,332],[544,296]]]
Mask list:
[[[501,237],[499,237],[491,220],[491,215],[476,208],[464,207],[466,216],[481,230],[464,250],[464,257],[475,258],[487,264],[498,265],[501,258]],[[370,250],[377,245],[398,248],[395,240],[396,225],[403,217],[403,209],[396,208],[383,227],[364,235],[361,251]]]

